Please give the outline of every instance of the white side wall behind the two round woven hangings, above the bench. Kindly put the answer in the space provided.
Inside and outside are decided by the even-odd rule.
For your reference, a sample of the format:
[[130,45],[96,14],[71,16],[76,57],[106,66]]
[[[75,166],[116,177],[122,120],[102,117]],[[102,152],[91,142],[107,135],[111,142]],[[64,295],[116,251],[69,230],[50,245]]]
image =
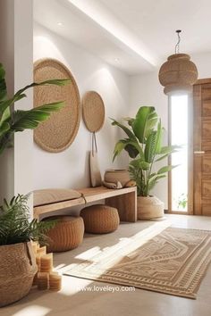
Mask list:
[[[96,90],[105,102],[105,125],[97,133],[98,157],[102,174],[107,168],[126,167],[127,155],[112,163],[114,144],[121,135],[119,129],[111,126],[109,117],[120,119],[128,115],[128,76],[35,23],[34,61],[45,57],[63,62],[72,71],[80,96],[88,90]],[[91,136],[82,119],[78,135],[64,152],[47,153],[34,144],[34,189],[89,186],[90,146]]]

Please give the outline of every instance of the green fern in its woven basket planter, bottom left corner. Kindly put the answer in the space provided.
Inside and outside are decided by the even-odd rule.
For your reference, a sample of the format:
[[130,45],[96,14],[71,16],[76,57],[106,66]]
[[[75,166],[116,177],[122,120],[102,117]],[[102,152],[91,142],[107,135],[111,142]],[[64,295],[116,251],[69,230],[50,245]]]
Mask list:
[[14,196],[0,206],[0,306],[27,295],[38,270],[31,240],[45,242],[55,221],[30,221],[29,195]]

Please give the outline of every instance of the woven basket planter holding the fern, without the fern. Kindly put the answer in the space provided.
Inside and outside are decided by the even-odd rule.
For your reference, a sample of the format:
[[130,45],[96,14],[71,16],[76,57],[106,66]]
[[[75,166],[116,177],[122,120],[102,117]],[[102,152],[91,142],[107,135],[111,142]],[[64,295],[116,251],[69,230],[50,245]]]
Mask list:
[[0,245],[0,306],[27,295],[37,270],[30,242]]

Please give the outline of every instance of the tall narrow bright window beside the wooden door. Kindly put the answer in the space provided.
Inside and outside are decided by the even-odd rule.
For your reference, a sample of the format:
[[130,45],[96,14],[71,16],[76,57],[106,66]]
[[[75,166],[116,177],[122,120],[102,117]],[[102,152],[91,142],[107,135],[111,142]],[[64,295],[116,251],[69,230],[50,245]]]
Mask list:
[[171,157],[172,165],[177,165],[170,174],[169,211],[188,211],[189,192],[189,98],[184,96],[170,97],[170,144],[179,145],[181,149]]

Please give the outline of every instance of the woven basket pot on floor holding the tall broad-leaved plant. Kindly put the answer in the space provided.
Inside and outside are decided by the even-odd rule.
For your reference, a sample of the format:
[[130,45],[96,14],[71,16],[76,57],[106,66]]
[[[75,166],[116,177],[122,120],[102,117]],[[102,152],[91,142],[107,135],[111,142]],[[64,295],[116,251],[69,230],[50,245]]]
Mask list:
[[156,196],[138,196],[138,220],[152,220],[164,216],[165,204]]

